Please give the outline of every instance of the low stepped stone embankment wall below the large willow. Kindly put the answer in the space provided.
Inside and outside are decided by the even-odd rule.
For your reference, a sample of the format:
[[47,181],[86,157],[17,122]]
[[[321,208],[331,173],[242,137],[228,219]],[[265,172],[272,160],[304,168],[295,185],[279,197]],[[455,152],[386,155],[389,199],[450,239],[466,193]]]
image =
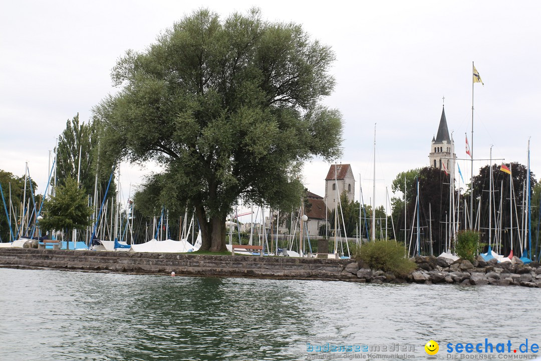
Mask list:
[[0,248],[0,266],[56,268],[95,272],[255,277],[272,279],[349,280],[344,271],[351,260],[190,253],[133,253],[56,251],[33,248]]

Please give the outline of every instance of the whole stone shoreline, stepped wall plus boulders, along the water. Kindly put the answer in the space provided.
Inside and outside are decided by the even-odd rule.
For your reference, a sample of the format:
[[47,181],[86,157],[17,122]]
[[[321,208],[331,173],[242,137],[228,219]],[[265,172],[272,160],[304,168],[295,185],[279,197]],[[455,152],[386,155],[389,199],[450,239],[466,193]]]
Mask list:
[[373,284],[457,284],[541,287],[537,262],[485,262],[478,258],[453,261],[441,257],[412,259],[417,269],[403,277],[392,272],[371,270],[351,259],[308,259],[202,255],[190,253],[132,253],[34,248],[0,248],[0,267],[47,268],[69,271],[162,274],[204,277],[247,277],[350,281]]

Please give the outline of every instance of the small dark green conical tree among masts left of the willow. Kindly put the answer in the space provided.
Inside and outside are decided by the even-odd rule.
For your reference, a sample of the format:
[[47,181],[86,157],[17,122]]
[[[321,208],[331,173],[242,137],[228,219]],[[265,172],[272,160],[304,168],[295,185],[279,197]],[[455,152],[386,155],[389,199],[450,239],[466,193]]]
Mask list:
[[71,230],[91,225],[92,208],[88,207],[88,196],[79,189],[77,181],[68,177],[64,185],[56,188],[56,195],[45,200],[43,219],[38,222],[45,231],[49,229]]

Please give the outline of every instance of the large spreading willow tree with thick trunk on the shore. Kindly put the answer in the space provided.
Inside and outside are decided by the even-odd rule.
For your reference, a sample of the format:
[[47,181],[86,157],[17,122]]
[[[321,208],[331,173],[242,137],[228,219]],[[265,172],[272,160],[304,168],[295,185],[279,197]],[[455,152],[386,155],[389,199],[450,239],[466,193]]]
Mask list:
[[302,162],[341,152],[331,94],[331,49],[259,10],[226,19],[195,11],[113,69],[120,88],[95,114],[107,153],[155,160],[148,184],[163,205],[194,208],[202,249],[225,250],[226,215],[237,199],[280,207],[300,202]]

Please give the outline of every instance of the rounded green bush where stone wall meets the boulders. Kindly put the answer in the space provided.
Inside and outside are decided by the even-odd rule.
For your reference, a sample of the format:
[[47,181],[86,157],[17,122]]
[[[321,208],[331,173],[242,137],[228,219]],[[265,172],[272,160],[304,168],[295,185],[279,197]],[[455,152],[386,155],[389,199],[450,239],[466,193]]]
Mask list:
[[404,244],[394,240],[376,240],[354,245],[352,254],[372,270],[405,275],[417,268],[415,262],[404,257]]

